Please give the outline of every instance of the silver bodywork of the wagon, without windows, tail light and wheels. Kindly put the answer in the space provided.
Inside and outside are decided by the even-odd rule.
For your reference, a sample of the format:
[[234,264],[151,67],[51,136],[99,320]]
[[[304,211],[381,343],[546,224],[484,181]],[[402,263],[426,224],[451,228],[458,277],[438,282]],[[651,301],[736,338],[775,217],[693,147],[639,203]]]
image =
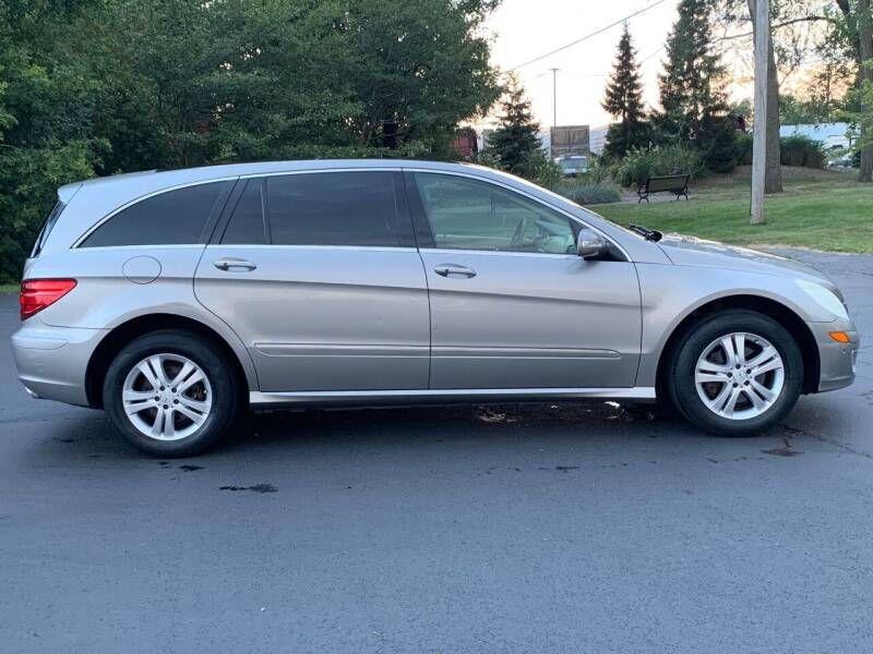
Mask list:
[[[599,233],[623,261],[428,246],[135,245],[80,247],[120,209],[216,180],[388,170],[473,178],[547,205]],[[239,362],[253,405],[488,398],[656,396],[670,338],[695,312],[766,305],[801,341],[804,391],[849,385],[858,332],[802,282],[816,270],[695,239],[647,241],[565,198],[490,169],[409,160],[246,164],[91,180],[65,205],[25,279],[76,288],[24,320],[12,344],[28,391],[97,405],[94,355],[119,329],[158,316],[214,332]],[[224,259],[253,269],[216,267]],[[446,270],[461,274],[445,275]],[[475,276],[465,276],[465,270]],[[763,303],[763,304],[762,304]],[[846,331],[851,342],[829,338]]]

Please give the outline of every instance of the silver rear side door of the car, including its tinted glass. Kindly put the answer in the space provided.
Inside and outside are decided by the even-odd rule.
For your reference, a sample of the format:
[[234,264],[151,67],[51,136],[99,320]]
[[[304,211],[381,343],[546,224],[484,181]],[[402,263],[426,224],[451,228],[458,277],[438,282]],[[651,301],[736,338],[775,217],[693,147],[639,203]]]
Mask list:
[[198,268],[200,301],[262,391],[423,389],[426,279],[399,172],[241,180]]

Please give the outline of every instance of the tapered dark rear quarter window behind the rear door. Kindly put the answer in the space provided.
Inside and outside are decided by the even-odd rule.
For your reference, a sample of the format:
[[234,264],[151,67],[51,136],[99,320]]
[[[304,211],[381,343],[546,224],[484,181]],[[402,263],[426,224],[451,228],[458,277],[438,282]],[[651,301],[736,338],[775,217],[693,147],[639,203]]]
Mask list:
[[82,247],[204,243],[206,219],[227,184],[198,184],[146,197],[109,218]]

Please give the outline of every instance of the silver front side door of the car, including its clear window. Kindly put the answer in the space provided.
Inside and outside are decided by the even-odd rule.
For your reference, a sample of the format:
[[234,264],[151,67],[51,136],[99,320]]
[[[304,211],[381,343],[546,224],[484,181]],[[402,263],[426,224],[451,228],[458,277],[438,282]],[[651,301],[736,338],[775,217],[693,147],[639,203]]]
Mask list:
[[410,172],[407,189],[430,288],[431,388],[634,385],[632,263],[582,259],[578,223],[481,179]]

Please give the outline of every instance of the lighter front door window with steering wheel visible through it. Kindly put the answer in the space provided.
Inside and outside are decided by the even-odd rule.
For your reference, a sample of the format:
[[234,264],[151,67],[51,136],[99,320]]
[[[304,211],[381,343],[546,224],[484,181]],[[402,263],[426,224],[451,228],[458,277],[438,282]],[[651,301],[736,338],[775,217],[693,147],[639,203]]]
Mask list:
[[571,220],[537,202],[468,178],[415,173],[435,247],[575,254]]

